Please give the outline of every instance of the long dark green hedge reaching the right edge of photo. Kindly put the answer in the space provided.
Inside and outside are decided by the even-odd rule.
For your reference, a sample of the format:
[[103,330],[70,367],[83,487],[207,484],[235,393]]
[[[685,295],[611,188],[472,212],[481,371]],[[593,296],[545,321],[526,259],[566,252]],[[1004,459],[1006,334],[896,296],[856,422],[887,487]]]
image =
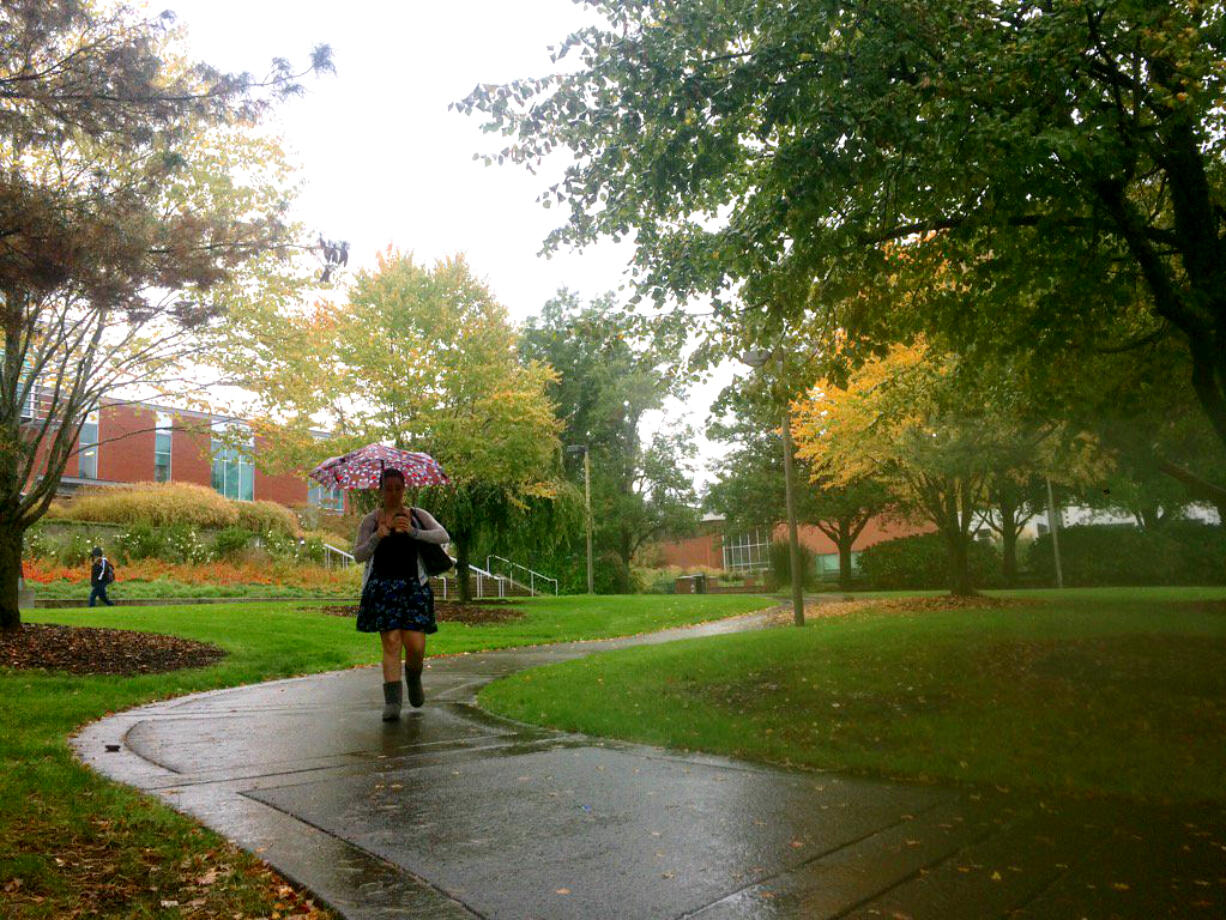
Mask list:
[[[1065,585],[1226,584],[1226,530],[1175,521],[1157,530],[1129,525],[1062,527],[1060,570]],[[1056,580],[1052,536],[1038,537],[1027,554],[1032,575]]]

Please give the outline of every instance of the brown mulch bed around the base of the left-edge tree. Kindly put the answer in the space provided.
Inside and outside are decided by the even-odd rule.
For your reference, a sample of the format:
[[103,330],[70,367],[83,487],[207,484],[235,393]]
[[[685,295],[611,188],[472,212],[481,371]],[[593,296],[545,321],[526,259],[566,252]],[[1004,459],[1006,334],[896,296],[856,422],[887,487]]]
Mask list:
[[205,667],[224,654],[202,642],[128,629],[23,623],[0,631],[0,667],[131,677]]

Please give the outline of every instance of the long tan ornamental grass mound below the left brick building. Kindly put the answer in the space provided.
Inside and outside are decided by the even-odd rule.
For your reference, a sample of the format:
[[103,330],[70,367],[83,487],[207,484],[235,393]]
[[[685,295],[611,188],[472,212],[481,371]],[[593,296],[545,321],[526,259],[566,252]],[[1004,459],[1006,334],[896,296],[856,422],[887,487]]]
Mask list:
[[[166,526],[191,524],[197,527],[232,527],[238,524],[238,508],[205,486],[188,482],[137,482],[83,492],[71,503],[53,505],[55,518],[147,524]],[[248,503],[254,504],[254,503]],[[48,510],[50,516],[53,510]]]

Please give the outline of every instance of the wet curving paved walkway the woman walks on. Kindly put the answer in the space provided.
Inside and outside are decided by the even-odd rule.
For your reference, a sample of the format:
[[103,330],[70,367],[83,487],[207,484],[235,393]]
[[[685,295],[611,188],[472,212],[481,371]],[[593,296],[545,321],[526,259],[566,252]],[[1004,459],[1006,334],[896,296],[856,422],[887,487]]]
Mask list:
[[1226,816],[895,785],[490,718],[506,673],[760,617],[429,661],[379,720],[358,669],[142,707],[81,758],[162,796],[352,920],[1221,916]]

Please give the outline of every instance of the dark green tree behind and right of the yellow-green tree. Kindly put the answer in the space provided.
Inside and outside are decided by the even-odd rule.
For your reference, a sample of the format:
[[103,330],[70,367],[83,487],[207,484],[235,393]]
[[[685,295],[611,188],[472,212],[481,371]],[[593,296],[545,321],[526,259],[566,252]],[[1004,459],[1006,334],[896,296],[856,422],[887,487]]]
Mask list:
[[[550,396],[565,423],[563,440],[590,451],[595,556],[617,564],[612,578],[598,580],[626,591],[634,554],[696,521],[693,433],[662,431],[645,442],[641,432],[644,416],[684,395],[679,343],[653,335],[612,296],[584,307],[562,291],[528,321],[520,350],[558,372]],[[573,477],[581,475],[576,465]]]

